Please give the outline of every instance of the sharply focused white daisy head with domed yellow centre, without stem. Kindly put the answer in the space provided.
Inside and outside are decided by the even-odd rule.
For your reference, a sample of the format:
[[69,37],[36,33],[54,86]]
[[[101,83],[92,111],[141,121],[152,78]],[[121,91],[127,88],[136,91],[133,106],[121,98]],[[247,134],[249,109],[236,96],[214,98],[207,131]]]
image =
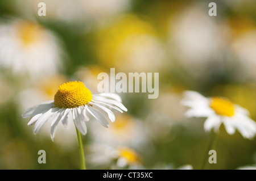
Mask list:
[[56,127],[61,122],[64,127],[70,122],[75,123],[81,134],[86,134],[85,122],[89,115],[98,120],[104,127],[109,127],[109,120],[114,122],[115,116],[110,108],[119,112],[127,111],[117,94],[94,94],[82,82],[67,82],[59,86],[54,100],[29,108],[22,117],[31,117],[28,125],[35,124],[33,132],[38,133],[47,121],[51,121],[51,138],[53,140]]

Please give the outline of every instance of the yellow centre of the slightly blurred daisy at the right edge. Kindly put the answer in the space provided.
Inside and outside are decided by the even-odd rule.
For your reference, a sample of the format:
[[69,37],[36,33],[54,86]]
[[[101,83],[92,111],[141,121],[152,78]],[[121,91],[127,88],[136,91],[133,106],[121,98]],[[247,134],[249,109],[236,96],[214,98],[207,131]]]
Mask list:
[[221,116],[234,116],[235,107],[228,99],[214,97],[210,98],[210,108],[212,108],[217,115]]

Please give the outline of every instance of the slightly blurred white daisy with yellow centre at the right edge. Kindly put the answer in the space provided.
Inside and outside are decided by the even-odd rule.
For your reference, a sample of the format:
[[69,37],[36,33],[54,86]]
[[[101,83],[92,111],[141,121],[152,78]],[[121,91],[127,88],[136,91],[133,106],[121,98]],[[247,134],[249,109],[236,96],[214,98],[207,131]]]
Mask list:
[[214,129],[218,132],[223,123],[228,134],[234,134],[236,129],[244,138],[251,139],[256,133],[256,123],[249,117],[249,112],[226,98],[205,98],[195,91],[185,91],[185,99],[181,104],[190,107],[185,115],[187,117],[207,117],[204,130]]

